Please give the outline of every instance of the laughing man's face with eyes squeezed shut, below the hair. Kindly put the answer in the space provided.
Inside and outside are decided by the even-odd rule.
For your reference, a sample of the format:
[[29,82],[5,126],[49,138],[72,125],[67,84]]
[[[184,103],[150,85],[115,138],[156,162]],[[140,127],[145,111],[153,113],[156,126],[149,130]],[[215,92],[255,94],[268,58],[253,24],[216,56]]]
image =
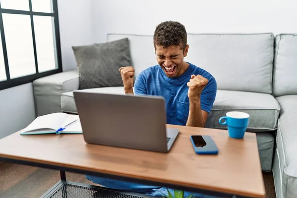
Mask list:
[[164,70],[169,78],[182,75],[187,69],[187,63],[184,62],[184,56],[188,53],[189,46],[186,46],[185,51],[180,46],[156,46],[155,53],[159,65]]

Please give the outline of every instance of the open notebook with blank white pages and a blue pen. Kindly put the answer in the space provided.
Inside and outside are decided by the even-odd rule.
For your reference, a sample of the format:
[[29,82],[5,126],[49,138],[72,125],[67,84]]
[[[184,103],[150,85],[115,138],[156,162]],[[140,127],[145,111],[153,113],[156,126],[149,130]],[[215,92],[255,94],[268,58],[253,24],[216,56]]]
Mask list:
[[23,129],[20,135],[50,133],[82,134],[83,130],[79,116],[69,115],[67,113],[51,113],[48,115],[39,116],[31,124],[29,124],[29,126]]

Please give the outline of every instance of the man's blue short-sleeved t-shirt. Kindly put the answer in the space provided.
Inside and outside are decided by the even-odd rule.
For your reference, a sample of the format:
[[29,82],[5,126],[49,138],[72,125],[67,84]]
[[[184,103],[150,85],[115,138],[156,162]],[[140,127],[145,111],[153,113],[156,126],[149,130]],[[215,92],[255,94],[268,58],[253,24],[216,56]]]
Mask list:
[[167,124],[186,125],[189,115],[190,101],[187,83],[191,75],[201,75],[208,80],[208,84],[200,95],[201,109],[210,112],[217,91],[214,77],[207,71],[189,63],[184,74],[175,78],[166,76],[159,66],[152,66],[142,71],[134,85],[135,95],[162,96],[166,102]]

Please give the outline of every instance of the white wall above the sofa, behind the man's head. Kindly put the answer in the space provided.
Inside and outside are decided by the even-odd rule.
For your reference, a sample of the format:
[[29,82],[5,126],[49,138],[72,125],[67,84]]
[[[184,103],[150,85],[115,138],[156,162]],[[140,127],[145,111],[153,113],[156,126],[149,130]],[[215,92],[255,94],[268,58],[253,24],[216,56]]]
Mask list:
[[293,33],[296,10],[296,0],[92,0],[93,42],[107,33],[153,35],[165,20],[188,33]]

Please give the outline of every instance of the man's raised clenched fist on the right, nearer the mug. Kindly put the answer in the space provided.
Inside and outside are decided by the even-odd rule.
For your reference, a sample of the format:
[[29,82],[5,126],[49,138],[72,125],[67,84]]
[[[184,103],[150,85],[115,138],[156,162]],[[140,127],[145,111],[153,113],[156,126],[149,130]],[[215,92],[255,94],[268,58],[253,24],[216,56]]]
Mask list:
[[189,87],[188,97],[189,99],[200,99],[200,94],[203,88],[207,85],[208,80],[200,75],[192,75],[190,81],[187,83]]

